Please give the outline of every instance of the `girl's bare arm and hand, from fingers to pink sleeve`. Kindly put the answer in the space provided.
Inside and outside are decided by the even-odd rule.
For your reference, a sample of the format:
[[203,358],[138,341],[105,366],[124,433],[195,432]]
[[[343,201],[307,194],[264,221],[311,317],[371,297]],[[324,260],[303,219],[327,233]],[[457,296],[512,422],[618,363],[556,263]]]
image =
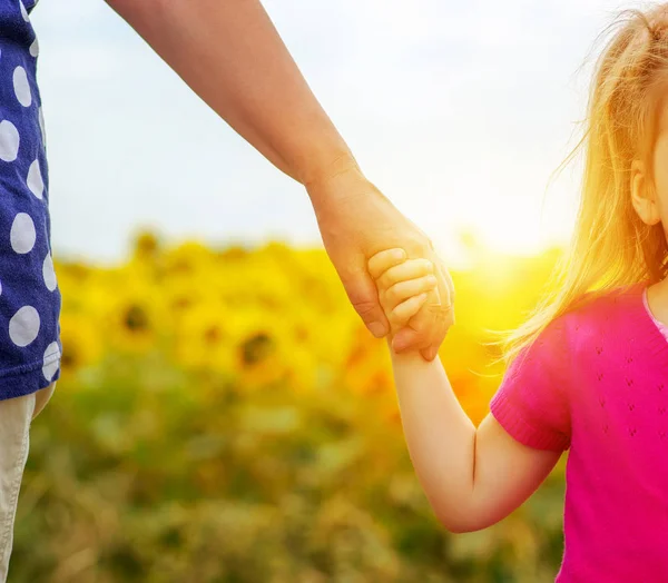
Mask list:
[[[410,288],[423,292],[418,277],[424,279],[428,269],[419,261],[392,259],[389,251],[370,261],[392,335],[420,309],[418,296],[406,298]],[[396,308],[410,300],[411,309],[397,315]],[[512,417],[501,416],[511,435],[492,413],[475,428],[439,357],[425,362],[416,352],[394,353],[391,339],[389,346],[411,461],[439,521],[449,531],[461,533],[485,528],[508,516],[537,490],[559,460],[563,441],[558,432],[538,444],[510,425],[508,419]]]

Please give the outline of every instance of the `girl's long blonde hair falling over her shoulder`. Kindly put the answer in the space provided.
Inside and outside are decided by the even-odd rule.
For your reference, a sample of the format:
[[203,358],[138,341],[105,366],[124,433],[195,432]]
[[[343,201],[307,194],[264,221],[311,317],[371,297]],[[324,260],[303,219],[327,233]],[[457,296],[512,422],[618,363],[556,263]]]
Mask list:
[[[668,245],[661,223],[646,225],[631,204],[631,162],[645,161],[654,188],[657,113],[668,79],[668,3],[622,10],[602,32],[619,27],[596,62],[584,134],[557,168],[586,149],[578,218],[570,246],[548,292],[519,328],[501,332],[509,365],[557,317],[620,286],[664,279]],[[601,37],[597,37],[597,40]],[[552,292],[550,292],[550,289]],[[499,334],[497,330],[495,334]],[[504,353],[504,354],[503,354]],[[500,358],[500,359],[501,359]],[[499,360],[497,360],[499,362]]]

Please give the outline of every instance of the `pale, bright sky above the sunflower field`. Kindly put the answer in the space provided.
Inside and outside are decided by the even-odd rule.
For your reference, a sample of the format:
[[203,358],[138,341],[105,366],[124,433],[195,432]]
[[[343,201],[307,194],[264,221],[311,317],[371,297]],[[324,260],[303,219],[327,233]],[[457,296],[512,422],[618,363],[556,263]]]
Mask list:
[[[519,254],[567,241],[581,168],[548,181],[577,144],[593,41],[647,2],[263,3],[365,175],[450,265],[462,230]],[[102,0],[40,0],[31,20],[57,259],[122,261],[141,228],[170,245],[321,245],[304,188]]]

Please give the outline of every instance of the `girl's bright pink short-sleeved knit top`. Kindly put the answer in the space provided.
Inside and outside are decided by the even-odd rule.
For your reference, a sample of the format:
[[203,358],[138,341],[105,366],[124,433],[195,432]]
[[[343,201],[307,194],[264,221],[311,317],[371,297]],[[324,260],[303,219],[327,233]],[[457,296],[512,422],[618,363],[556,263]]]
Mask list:
[[668,329],[647,286],[552,320],[490,403],[519,442],[569,449],[558,583],[668,582]]

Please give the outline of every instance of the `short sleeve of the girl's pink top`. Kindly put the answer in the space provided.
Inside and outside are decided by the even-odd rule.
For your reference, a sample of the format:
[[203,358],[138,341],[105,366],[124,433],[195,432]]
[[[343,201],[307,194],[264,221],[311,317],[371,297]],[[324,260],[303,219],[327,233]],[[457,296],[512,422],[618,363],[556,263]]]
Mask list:
[[570,447],[563,322],[552,320],[510,364],[490,411],[517,441],[562,452]]

